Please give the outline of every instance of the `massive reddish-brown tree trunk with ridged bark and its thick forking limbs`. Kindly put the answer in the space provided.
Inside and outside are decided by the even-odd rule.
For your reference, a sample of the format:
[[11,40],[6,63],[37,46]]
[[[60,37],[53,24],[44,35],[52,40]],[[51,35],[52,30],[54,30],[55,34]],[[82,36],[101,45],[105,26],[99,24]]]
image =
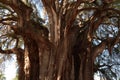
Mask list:
[[[97,15],[93,15],[89,22],[74,25],[79,5],[84,1],[69,4],[67,0],[61,3],[58,0],[42,0],[49,17],[49,33],[47,28],[30,19],[32,9],[21,0],[0,1],[17,13],[18,22],[11,28],[24,40],[24,54],[17,54],[19,80],[93,80],[93,62],[106,42],[94,48],[92,29],[98,28],[103,16],[99,17],[96,11]],[[25,55],[28,63],[24,63]],[[25,73],[24,64],[28,64]]]

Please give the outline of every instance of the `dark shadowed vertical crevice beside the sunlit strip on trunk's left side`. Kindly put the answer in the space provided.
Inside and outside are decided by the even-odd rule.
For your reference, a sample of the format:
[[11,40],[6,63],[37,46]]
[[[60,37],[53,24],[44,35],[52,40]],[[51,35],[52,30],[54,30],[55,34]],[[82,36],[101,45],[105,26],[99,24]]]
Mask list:
[[39,80],[39,48],[32,38],[25,38],[25,47],[28,50],[30,61],[29,80]]

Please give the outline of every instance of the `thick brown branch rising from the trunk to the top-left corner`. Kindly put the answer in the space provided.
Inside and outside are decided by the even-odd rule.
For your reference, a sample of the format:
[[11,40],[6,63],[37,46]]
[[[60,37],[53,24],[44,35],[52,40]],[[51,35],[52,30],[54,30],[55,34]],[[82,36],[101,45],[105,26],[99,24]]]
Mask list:
[[25,5],[21,0],[0,0],[1,3],[10,6],[18,15],[18,25],[20,27],[24,26],[25,21],[30,20],[30,14],[32,9]]

